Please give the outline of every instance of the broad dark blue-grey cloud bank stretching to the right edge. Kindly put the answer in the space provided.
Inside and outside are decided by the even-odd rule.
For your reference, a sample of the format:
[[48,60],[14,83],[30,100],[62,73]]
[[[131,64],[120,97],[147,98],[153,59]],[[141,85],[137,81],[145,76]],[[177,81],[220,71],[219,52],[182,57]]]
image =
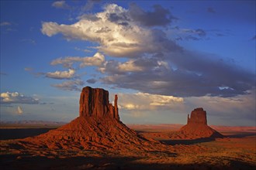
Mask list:
[[148,64],[146,72],[109,73],[101,80],[114,87],[178,97],[234,97],[247,94],[247,90],[255,86],[254,74],[234,63],[231,65],[189,51],[173,53],[168,59],[175,69],[168,69],[164,64]]

